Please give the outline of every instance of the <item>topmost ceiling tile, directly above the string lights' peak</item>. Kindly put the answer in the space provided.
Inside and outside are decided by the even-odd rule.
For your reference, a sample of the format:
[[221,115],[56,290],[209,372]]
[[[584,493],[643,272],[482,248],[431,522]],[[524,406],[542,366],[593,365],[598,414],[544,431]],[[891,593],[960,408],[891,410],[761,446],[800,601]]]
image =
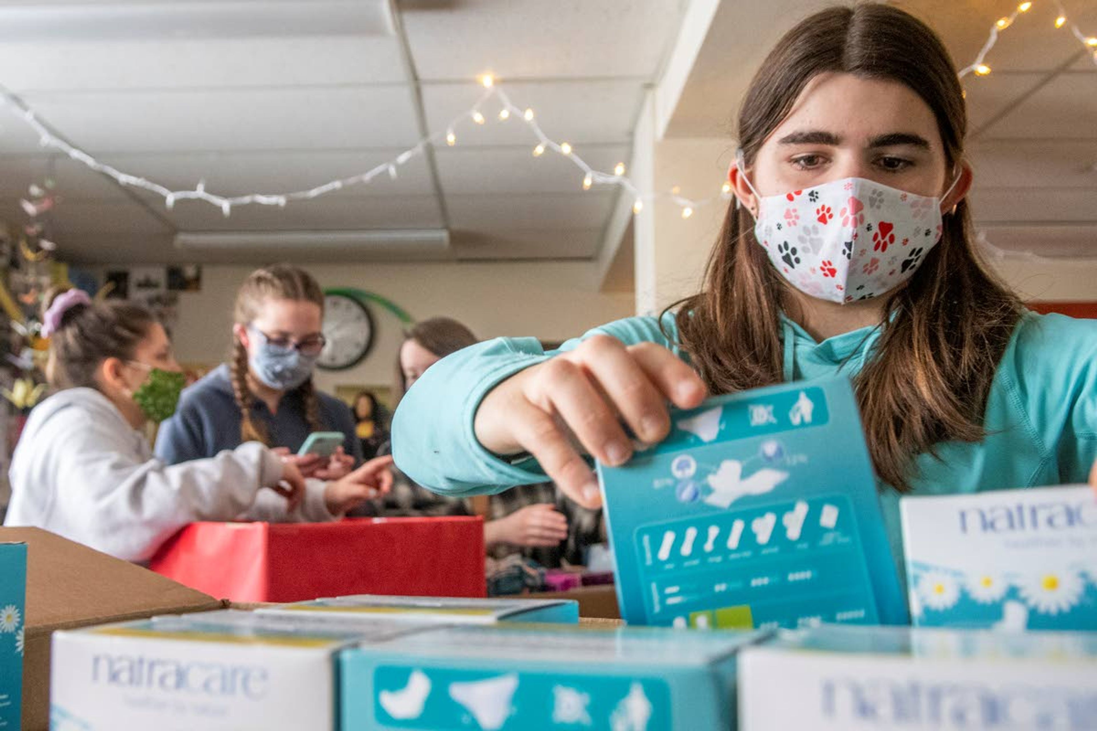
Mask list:
[[634,77],[653,80],[683,0],[400,2],[419,77]]

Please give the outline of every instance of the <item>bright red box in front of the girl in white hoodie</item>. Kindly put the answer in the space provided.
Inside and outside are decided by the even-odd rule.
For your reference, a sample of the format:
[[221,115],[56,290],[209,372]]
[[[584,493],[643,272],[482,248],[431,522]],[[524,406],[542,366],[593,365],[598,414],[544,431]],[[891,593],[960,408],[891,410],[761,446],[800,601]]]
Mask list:
[[192,523],[149,568],[234,602],[392,594],[484,596],[480,517]]

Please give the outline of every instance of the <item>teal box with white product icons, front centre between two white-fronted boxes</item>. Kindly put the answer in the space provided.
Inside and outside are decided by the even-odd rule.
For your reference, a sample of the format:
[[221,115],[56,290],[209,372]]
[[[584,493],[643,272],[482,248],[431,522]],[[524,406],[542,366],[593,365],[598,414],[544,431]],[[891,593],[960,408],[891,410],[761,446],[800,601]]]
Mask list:
[[340,653],[341,728],[731,729],[736,654],[765,637],[567,625],[432,629]]

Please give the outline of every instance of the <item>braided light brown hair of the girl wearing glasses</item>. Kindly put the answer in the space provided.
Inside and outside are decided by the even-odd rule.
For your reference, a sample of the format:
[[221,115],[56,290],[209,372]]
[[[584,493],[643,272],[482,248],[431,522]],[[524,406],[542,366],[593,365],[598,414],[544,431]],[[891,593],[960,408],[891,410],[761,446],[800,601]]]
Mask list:
[[[237,324],[247,327],[257,317],[263,304],[270,299],[290,299],[293,301],[313,302],[324,312],[324,290],[316,279],[305,270],[289,264],[275,264],[256,270],[240,285],[236,293],[236,307],[233,318]],[[240,410],[240,439],[244,442],[261,442],[269,445],[270,435],[265,426],[252,419],[251,406],[255,396],[248,386],[248,349],[239,338],[233,339],[233,354],[229,359],[233,395]],[[320,419],[320,404],[316,397],[316,388],[309,378],[298,387],[305,403],[305,418],[308,427],[314,432],[324,431]]]

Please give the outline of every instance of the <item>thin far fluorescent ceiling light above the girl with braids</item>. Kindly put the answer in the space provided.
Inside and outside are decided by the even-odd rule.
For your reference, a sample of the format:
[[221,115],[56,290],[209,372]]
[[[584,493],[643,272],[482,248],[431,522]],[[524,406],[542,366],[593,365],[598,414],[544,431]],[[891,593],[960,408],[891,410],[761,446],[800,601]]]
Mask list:
[[354,231],[183,231],[176,248],[205,251],[332,249],[358,252],[445,252],[450,232],[444,228],[363,229]]

